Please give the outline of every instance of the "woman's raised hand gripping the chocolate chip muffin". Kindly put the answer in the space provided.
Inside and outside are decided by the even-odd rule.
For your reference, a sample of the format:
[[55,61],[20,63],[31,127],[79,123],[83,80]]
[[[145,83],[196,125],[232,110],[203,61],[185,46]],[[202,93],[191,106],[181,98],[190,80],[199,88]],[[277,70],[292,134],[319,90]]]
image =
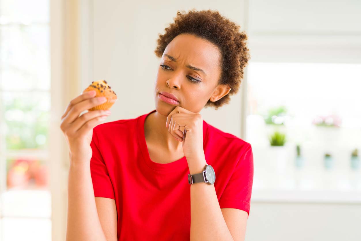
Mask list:
[[68,142],[72,160],[91,159],[93,128],[110,115],[110,111],[96,110],[79,116],[81,112],[106,102],[105,98],[101,100],[101,97],[94,96],[95,91],[88,91],[72,99],[61,117],[60,129]]

